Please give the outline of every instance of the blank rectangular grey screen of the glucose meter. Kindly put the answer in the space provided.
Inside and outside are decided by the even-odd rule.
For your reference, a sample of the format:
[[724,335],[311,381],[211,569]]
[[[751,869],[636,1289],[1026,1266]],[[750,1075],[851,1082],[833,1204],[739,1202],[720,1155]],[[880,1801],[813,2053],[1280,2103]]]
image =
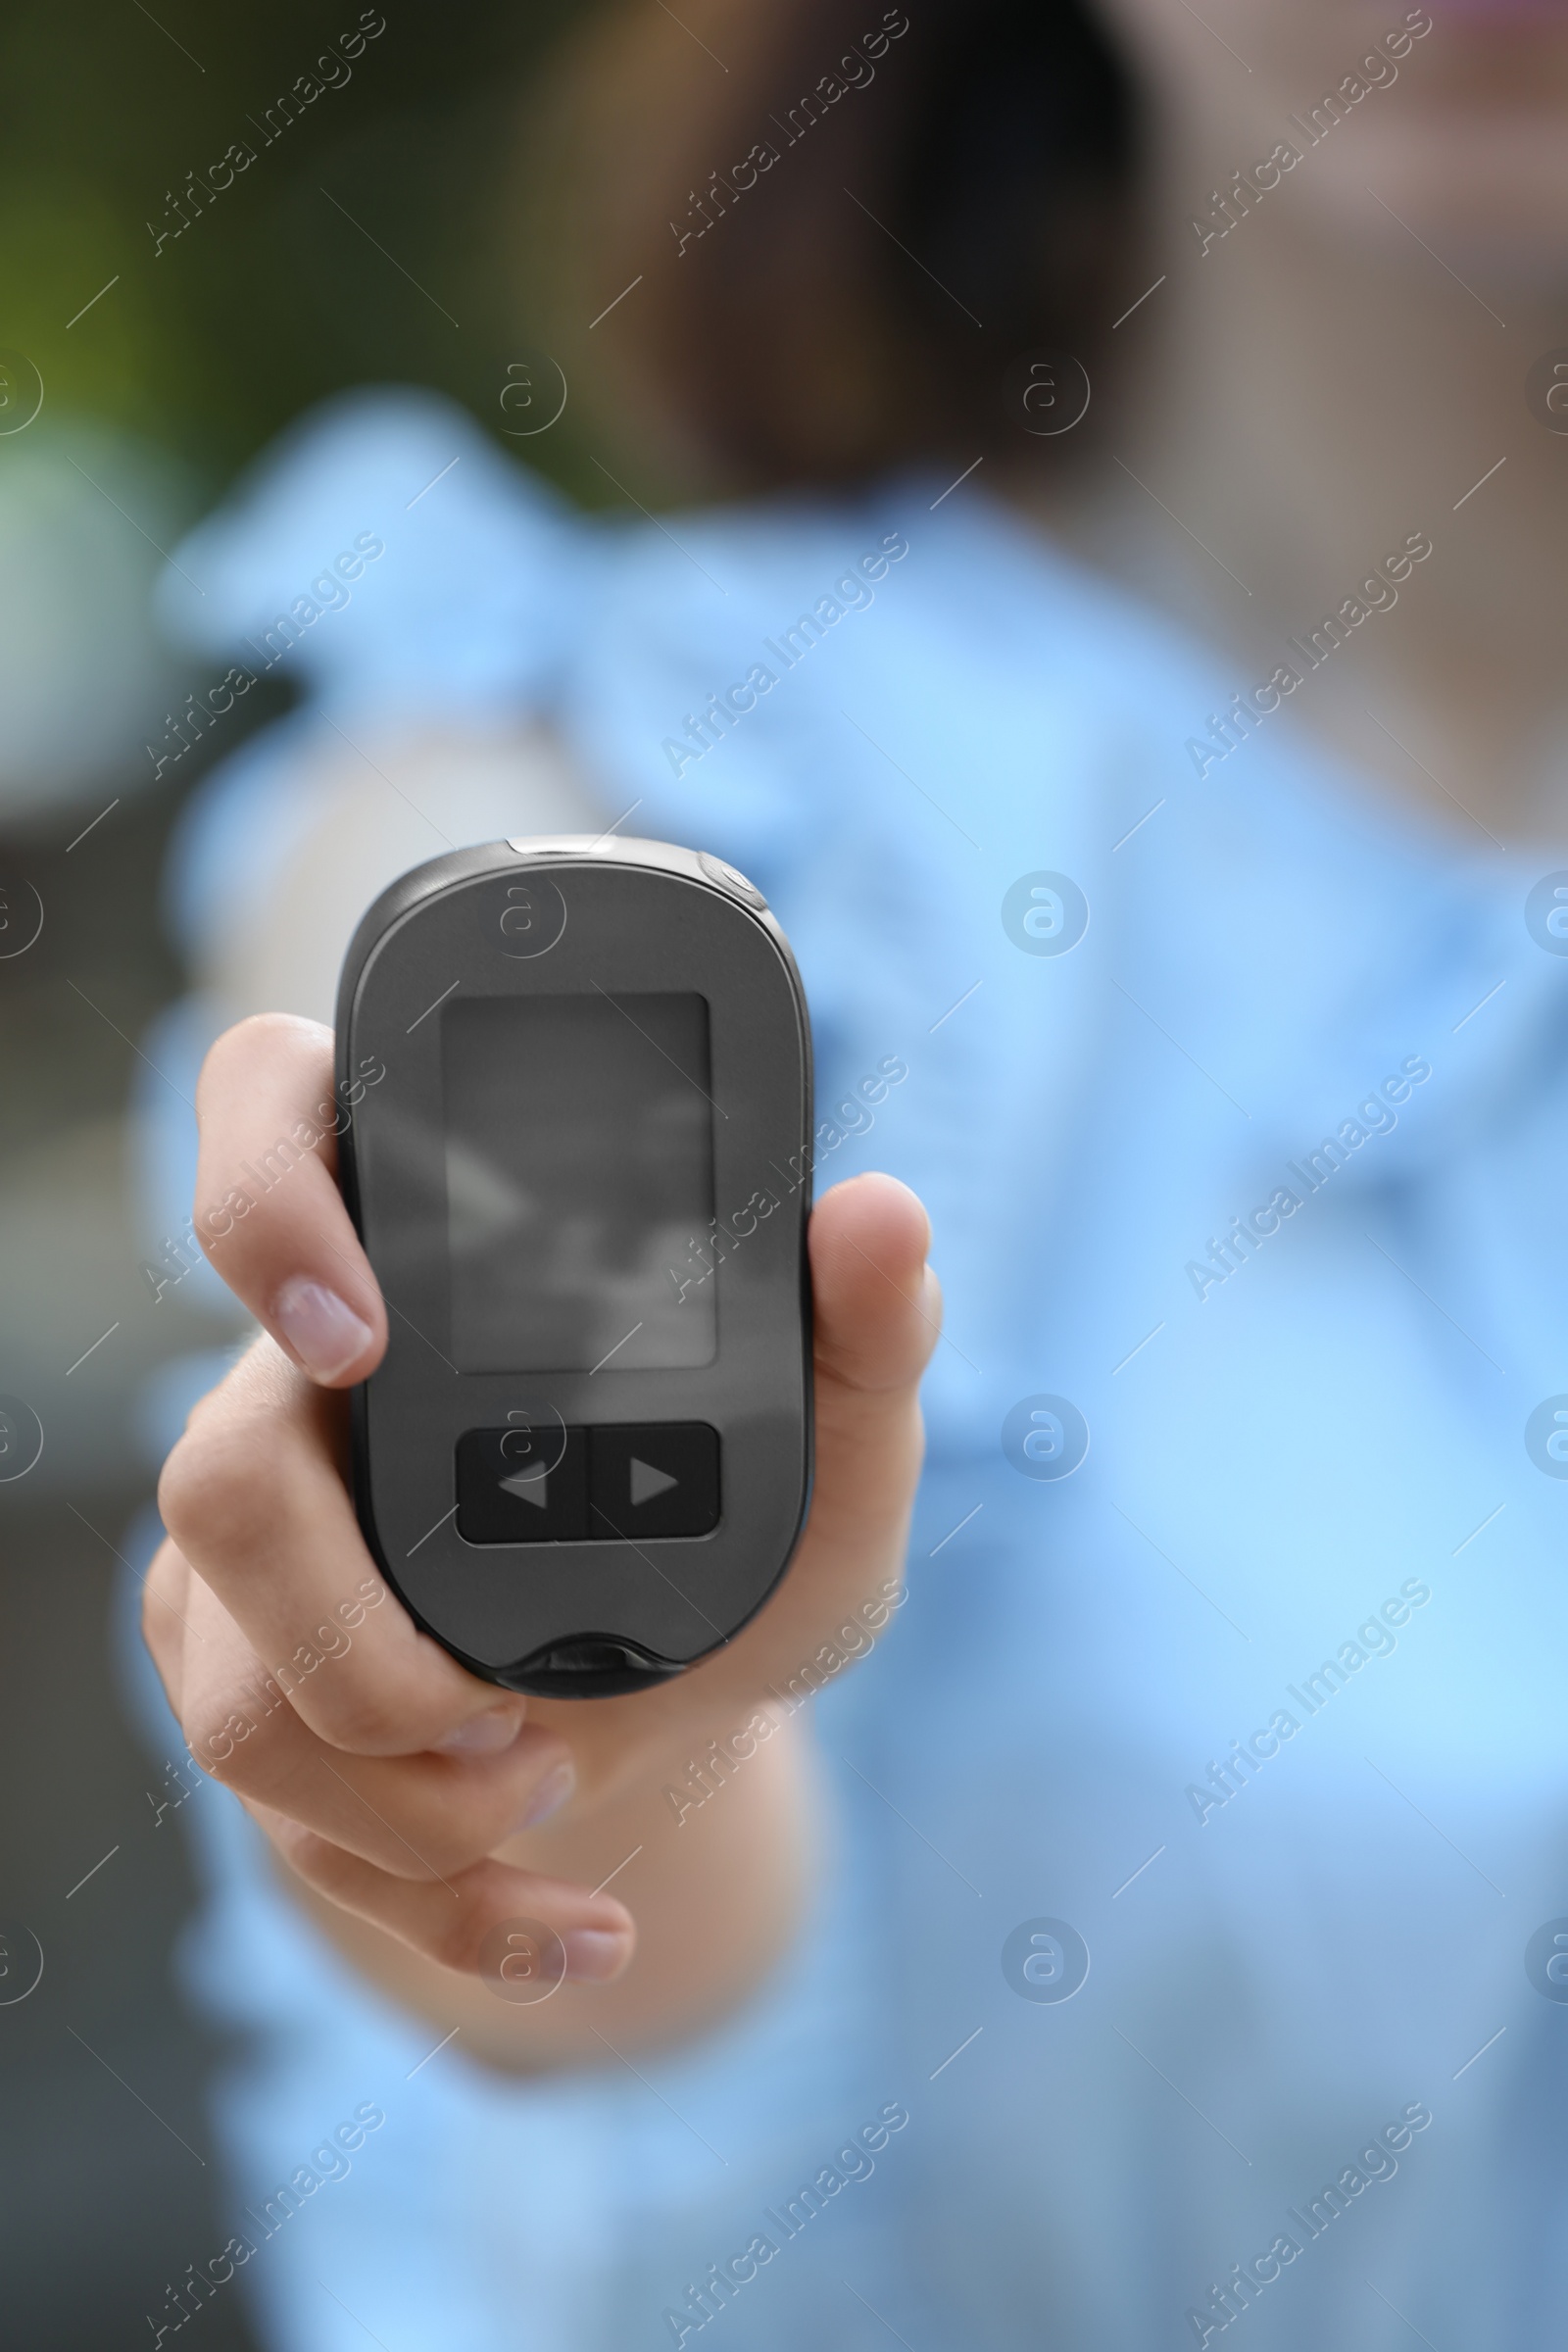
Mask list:
[[442,1094],[456,1369],[710,1364],[705,1000],[458,997]]

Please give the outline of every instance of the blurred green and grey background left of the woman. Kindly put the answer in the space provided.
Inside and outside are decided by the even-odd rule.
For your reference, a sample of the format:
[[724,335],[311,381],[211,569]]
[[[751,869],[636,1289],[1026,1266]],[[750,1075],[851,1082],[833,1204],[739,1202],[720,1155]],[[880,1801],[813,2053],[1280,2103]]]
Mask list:
[[[343,386],[437,386],[503,430],[534,341],[520,122],[576,14],[14,0],[0,31],[0,2310],[28,2352],[146,2343],[165,2281],[221,2244],[214,2053],[169,1978],[179,1783],[125,1722],[108,1604],[153,1491],[146,1385],[235,1327],[195,1284],[155,1298],[127,1105],[183,985],[169,830],[287,691],[263,680],[183,748],[181,703],[214,680],[158,642],[150,590],[247,459]],[[266,143],[280,94],[360,33]],[[233,141],[256,160],[219,191]],[[529,459],[604,492],[571,416]],[[237,2305],[202,2336],[244,2345]]]

